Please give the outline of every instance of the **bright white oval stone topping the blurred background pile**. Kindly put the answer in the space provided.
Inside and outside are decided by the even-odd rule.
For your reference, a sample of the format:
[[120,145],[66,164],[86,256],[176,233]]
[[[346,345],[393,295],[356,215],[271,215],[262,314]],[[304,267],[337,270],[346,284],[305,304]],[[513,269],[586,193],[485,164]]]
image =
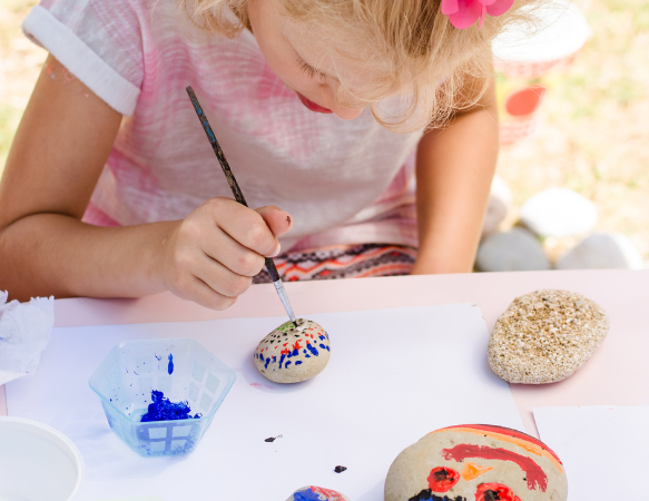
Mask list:
[[538,193],[521,207],[521,220],[537,235],[583,235],[597,224],[592,202],[569,188],[550,188]]

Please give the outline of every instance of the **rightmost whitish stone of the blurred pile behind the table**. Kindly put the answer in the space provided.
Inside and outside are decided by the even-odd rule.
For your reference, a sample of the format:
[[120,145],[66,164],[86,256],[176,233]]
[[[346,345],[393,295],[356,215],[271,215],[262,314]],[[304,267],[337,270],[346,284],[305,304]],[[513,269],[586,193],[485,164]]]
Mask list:
[[642,269],[642,255],[633,243],[620,233],[596,233],[566,252],[558,269]]

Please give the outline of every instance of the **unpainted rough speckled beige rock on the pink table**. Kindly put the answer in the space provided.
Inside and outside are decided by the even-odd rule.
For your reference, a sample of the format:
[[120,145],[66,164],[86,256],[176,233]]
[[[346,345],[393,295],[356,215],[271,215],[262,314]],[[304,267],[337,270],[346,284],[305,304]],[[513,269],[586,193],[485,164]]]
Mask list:
[[489,364],[510,383],[553,383],[574,374],[608,331],[604,311],[581,294],[537,291],[517,297],[495,323]]

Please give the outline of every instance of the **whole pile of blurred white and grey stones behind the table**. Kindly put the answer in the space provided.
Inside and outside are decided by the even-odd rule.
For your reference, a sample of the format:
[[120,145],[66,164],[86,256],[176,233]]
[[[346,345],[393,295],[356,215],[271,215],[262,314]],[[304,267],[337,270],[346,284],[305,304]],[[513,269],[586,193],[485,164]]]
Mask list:
[[[568,188],[550,188],[527,200],[513,228],[500,232],[511,208],[507,184],[494,178],[482,227],[475,267],[481,272],[542,269],[643,268],[638,248],[619,233],[593,233],[597,208]],[[555,259],[548,257],[547,238],[582,238]]]

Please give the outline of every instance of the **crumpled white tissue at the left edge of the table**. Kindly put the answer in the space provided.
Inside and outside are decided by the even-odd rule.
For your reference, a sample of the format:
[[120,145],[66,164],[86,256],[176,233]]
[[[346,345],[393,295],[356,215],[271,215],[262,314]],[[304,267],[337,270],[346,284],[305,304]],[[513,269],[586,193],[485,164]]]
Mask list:
[[29,303],[11,301],[0,291],[0,384],[36,373],[55,325],[55,297]]

